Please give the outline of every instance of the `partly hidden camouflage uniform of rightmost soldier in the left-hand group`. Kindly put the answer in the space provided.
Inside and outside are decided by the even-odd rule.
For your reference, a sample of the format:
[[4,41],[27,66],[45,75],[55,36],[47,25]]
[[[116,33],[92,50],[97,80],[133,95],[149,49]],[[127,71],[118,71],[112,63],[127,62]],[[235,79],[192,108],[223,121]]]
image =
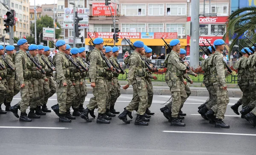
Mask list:
[[[42,56],[47,61],[47,63],[50,65],[51,62],[49,62],[48,57],[45,56],[45,55],[42,55]],[[49,68],[45,68],[45,72],[46,72],[46,77],[48,79],[48,85],[49,85],[49,95],[48,96],[44,96],[44,104],[47,104],[48,99],[50,97],[52,97],[52,95],[56,92],[56,83],[53,80],[52,70],[50,70]]]

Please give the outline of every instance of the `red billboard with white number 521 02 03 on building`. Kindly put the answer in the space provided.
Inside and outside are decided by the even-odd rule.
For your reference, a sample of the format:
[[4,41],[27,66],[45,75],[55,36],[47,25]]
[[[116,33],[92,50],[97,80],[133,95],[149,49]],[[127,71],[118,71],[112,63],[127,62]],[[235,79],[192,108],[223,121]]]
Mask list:
[[93,3],[92,6],[93,16],[111,16],[111,12],[114,16],[116,5],[113,3],[110,4],[111,11],[108,6],[105,6],[105,3]]

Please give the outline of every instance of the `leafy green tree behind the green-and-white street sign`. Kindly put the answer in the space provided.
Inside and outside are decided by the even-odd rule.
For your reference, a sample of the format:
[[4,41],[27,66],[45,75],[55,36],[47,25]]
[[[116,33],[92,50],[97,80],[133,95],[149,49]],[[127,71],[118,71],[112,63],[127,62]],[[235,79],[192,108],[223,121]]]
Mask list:
[[[56,25],[60,29],[55,29],[55,38],[58,39],[61,34],[61,25],[56,22]],[[47,40],[43,40],[43,27],[55,28],[53,25],[53,19],[49,16],[42,16],[41,19],[36,20],[36,37],[37,37],[37,44],[39,45],[39,33],[41,33],[41,42],[44,42],[44,45],[47,45]],[[35,23],[30,25],[30,29],[32,30],[32,34],[35,34]],[[35,41],[34,41],[35,42]],[[51,43],[49,43],[50,47],[53,47]]]

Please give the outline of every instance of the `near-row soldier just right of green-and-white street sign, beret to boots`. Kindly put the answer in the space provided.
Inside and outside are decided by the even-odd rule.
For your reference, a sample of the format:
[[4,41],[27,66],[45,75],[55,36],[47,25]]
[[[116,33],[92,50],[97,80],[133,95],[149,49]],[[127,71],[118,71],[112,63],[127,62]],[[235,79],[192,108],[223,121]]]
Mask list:
[[70,45],[66,45],[64,40],[58,40],[56,46],[59,52],[55,55],[53,64],[56,66],[58,104],[52,106],[52,110],[59,116],[60,122],[71,122],[71,119],[67,117],[71,116],[68,112],[70,112],[70,107],[76,98],[76,91],[71,82],[71,65],[67,59],[70,54]]

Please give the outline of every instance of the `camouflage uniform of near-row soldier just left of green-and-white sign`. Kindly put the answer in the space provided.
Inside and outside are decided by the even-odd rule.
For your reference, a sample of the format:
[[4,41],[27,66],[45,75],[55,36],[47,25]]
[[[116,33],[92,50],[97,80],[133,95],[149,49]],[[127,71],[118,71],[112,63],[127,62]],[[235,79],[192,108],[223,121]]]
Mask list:
[[20,106],[21,113],[26,113],[26,110],[34,97],[34,91],[31,89],[32,64],[30,59],[26,56],[26,51],[19,50],[15,55],[15,69],[16,77],[18,78],[20,85],[25,84],[25,87],[20,88],[21,101],[18,102],[18,105]]

